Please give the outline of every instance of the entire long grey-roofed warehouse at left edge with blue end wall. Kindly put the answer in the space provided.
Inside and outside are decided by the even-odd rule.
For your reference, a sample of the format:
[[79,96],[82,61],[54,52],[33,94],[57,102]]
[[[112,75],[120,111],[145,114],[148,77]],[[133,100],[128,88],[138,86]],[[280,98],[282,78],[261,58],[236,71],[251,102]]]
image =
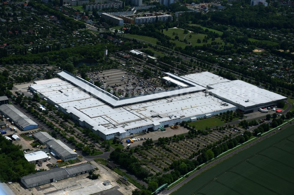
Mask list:
[[19,111],[16,107],[14,107],[14,105],[3,104],[0,106],[0,112],[6,118],[9,118],[11,122],[14,122],[14,124],[18,126],[21,131],[38,128],[38,124]]

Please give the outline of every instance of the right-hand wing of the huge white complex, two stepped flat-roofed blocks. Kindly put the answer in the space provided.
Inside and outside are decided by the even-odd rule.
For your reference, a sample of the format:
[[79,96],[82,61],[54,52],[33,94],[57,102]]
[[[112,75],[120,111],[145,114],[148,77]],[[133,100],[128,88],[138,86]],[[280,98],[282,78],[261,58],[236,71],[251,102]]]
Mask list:
[[259,88],[244,81],[230,81],[210,72],[181,76],[206,87],[209,95],[238,107],[245,113],[256,112],[259,108],[276,105],[287,97]]

